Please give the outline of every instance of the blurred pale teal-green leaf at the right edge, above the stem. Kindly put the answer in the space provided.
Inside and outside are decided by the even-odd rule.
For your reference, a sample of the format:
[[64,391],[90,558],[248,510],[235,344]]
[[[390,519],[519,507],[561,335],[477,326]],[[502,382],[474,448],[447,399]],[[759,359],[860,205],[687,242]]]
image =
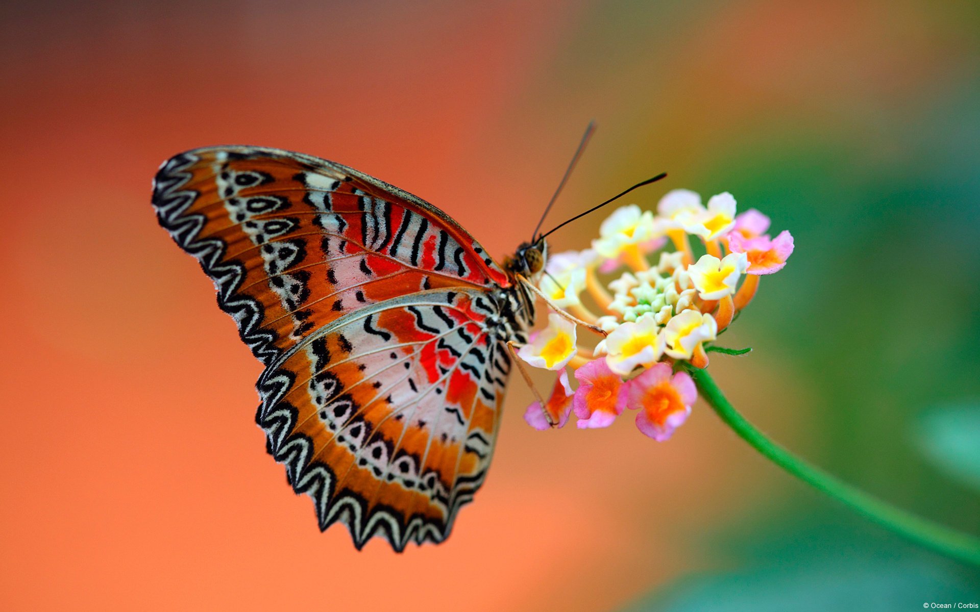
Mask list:
[[936,406],[918,420],[912,435],[926,458],[951,478],[980,490],[980,403]]

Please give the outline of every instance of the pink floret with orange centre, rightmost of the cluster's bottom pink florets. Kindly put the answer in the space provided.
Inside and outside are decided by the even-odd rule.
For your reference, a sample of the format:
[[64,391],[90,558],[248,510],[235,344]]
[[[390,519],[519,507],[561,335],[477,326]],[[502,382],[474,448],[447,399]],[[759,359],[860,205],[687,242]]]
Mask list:
[[624,385],[629,407],[637,409],[636,426],[657,442],[669,440],[691,413],[698,390],[687,372],[670,377],[670,366],[658,363]]

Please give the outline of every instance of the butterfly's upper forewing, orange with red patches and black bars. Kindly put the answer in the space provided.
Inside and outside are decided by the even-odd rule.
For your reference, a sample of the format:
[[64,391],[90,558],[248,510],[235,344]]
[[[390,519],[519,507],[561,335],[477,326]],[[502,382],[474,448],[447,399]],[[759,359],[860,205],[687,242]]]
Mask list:
[[507,285],[444,213],[352,168],[274,149],[177,156],[154,205],[269,363],[345,312],[415,291]]

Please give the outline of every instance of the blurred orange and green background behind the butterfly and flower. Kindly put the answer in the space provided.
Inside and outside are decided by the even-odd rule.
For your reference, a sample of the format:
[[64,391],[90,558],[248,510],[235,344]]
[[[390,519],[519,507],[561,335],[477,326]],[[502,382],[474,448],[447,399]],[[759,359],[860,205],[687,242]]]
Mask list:
[[[766,463],[703,404],[673,440],[538,433],[513,385],[440,546],[320,534],[253,422],[259,363],[160,229],[174,153],[353,165],[526,239],[636,192],[789,228],[711,367],[775,439],[980,533],[980,8],[943,3],[4,3],[0,608],[912,610],[975,572]],[[555,236],[580,248],[602,216]]]

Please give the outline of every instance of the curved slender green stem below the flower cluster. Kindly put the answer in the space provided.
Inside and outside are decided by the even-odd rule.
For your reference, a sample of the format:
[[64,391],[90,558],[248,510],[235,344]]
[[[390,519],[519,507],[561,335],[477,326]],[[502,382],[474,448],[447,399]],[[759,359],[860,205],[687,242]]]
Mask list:
[[915,516],[810,465],[766,438],[752,423],[745,420],[725,399],[707,370],[688,364],[684,364],[684,368],[698,385],[701,397],[708,401],[721,420],[770,461],[882,527],[936,552],[980,566],[980,539]]

